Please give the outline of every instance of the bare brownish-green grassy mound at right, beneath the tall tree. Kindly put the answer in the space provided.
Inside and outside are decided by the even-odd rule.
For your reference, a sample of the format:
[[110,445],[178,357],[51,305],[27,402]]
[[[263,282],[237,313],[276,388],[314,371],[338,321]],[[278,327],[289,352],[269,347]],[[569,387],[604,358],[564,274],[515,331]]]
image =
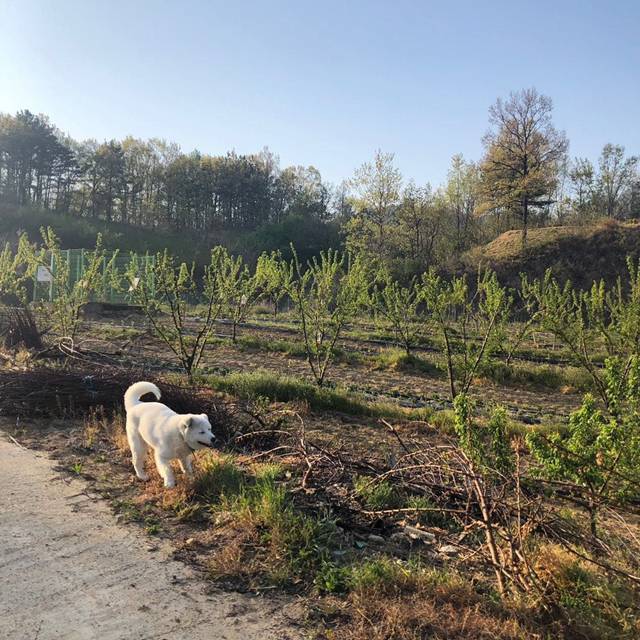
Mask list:
[[594,280],[607,282],[626,272],[626,257],[640,257],[640,223],[607,220],[583,227],[531,229],[523,250],[520,231],[507,231],[462,257],[464,268],[479,265],[496,270],[501,282],[515,286],[520,273],[541,277],[551,267],[560,280],[570,279],[578,287]]

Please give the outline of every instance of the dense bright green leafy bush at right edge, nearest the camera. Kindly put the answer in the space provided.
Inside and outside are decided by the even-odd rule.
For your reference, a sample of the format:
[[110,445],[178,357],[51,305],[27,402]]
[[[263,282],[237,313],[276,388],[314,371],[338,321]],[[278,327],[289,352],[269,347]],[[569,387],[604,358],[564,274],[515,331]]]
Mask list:
[[606,409],[587,394],[566,433],[527,436],[540,474],[586,508],[594,537],[603,506],[640,497],[640,358],[608,358],[602,380]]

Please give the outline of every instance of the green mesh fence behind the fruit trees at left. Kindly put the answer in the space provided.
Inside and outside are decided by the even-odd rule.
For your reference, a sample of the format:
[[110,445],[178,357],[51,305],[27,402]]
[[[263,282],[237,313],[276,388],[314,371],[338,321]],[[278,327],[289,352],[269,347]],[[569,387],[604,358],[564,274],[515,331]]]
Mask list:
[[[62,259],[65,264],[69,265],[69,285],[74,285],[76,282],[82,280],[84,277],[85,269],[87,268],[88,257],[90,252],[85,249],[66,249],[61,252]],[[113,254],[106,255],[104,258],[104,266],[110,263],[113,258]],[[147,266],[151,267],[155,263],[155,256],[149,255],[136,255],[138,264],[138,277],[145,277],[145,273],[150,273],[147,270]],[[108,304],[130,304],[131,296],[129,288],[131,283],[125,277],[127,267],[131,262],[132,256],[116,255],[113,260],[113,266],[115,271],[119,274],[119,277],[115,282],[107,282],[104,286],[100,287],[100,292],[92,296],[93,302],[102,302]],[[49,301],[53,302],[56,295],[55,287],[53,285],[52,275],[55,275],[57,269],[61,268],[56,264],[55,256],[51,256],[49,259],[49,265],[47,267],[39,267],[36,273],[33,285],[33,300],[35,301]],[[149,277],[153,277],[149,275]],[[153,291],[153,282],[150,283],[151,290]]]

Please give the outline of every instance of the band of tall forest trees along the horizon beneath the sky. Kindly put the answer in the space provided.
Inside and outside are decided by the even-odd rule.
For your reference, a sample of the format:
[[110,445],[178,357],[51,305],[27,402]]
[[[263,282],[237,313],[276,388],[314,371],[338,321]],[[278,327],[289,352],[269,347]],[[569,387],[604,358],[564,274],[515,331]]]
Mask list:
[[639,218],[638,157],[607,144],[598,158],[570,159],[552,116],[535,89],[498,99],[483,156],[455,155],[434,186],[405,180],[382,150],[332,185],[313,166],[281,167],[266,148],[213,156],[160,138],[77,141],[46,115],[0,114],[0,233],[58,219],[94,237],[115,229],[130,249],[164,243],[183,253],[182,243],[184,253],[206,253],[222,243],[250,260],[286,253],[290,242],[303,258],[346,246],[407,277],[457,264],[508,230],[520,230],[524,245],[530,228]]

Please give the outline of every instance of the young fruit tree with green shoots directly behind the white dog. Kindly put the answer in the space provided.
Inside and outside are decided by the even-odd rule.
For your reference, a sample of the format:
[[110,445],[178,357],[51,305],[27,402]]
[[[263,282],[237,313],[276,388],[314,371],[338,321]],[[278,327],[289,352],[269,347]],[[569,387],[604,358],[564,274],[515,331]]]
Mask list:
[[[127,269],[130,295],[147,316],[154,333],[169,347],[189,380],[193,380],[224,306],[219,274],[227,259],[222,247],[211,251],[200,287],[195,266],[177,264],[167,251],[141,267],[135,256]],[[204,305],[204,313],[196,308]]]

